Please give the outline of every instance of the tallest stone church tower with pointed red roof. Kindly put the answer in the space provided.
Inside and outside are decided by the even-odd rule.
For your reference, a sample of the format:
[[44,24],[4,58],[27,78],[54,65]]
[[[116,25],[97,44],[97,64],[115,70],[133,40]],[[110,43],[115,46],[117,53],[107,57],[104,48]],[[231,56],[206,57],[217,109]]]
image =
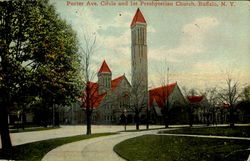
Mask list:
[[131,28],[131,63],[132,88],[138,88],[148,100],[148,54],[147,54],[147,23],[138,8],[130,25]]

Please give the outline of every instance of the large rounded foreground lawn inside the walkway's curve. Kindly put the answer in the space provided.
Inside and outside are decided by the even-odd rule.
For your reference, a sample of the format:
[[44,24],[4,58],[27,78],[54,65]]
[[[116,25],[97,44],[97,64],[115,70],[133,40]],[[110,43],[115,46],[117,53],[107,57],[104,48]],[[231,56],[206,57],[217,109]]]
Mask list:
[[114,147],[129,161],[246,161],[250,141],[145,135]]

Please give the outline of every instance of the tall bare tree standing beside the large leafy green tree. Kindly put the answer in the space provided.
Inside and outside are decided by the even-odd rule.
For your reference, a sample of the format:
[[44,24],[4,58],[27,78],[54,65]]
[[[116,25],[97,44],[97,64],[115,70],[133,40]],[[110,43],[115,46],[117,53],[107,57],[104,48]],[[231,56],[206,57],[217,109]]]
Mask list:
[[95,76],[95,72],[91,70],[91,57],[96,52],[96,36],[84,35],[84,47],[81,48],[83,61],[83,108],[86,114],[87,122],[87,135],[91,135],[91,117],[94,108],[94,104],[98,101],[99,97],[96,96],[98,92],[97,86],[91,82]]

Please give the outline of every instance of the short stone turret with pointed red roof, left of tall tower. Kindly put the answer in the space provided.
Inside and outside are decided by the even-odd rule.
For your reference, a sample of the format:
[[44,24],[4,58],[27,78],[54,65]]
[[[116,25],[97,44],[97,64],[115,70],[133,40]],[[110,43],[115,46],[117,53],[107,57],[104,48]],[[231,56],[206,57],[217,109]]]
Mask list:
[[111,90],[112,73],[106,61],[104,60],[100,70],[98,71],[98,93],[103,94]]

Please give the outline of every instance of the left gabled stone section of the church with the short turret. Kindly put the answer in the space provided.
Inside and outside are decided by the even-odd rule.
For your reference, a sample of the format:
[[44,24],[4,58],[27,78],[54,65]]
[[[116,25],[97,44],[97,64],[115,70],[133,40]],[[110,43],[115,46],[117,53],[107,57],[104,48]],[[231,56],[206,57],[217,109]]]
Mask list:
[[[117,124],[130,104],[131,85],[125,75],[112,80],[112,72],[104,60],[98,71],[98,81],[89,82],[92,123]],[[83,108],[85,105],[82,105]]]

